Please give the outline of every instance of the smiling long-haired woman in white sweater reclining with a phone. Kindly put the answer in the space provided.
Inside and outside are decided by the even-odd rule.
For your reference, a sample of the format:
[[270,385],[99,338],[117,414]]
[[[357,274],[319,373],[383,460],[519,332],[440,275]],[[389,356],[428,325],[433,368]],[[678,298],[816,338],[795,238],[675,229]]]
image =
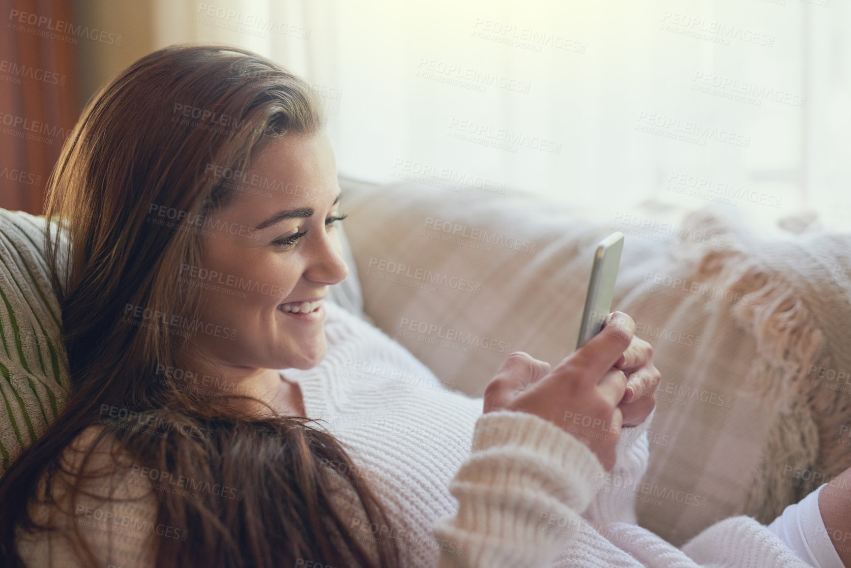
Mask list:
[[[647,461],[631,319],[553,369],[512,353],[483,399],[375,385],[349,366],[433,375],[322,301],[338,204],[316,97],[247,51],[163,49],[95,97],[47,203],[72,391],[0,480],[3,564],[694,565],[604,491]],[[724,554],[794,565],[737,522]]]

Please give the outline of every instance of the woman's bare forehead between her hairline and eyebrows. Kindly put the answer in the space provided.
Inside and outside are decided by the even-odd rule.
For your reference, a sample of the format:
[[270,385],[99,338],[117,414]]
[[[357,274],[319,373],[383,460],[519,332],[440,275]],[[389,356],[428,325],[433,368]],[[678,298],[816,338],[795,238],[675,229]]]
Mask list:
[[272,210],[329,206],[340,187],[328,135],[288,134],[271,141],[234,186],[228,209],[235,214],[264,217]]

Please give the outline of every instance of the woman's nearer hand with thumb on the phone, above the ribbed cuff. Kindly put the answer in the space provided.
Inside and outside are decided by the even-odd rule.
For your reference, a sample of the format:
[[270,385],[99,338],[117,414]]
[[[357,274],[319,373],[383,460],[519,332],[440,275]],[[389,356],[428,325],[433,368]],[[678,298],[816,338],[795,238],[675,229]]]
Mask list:
[[625,371],[615,364],[642,360],[639,353],[625,353],[634,330],[628,315],[611,313],[597,336],[552,370],[549,363],[528,353],[511,353],[484,390],[483,411],[540,416],[573,434],[611,471],[623,420],[618,405],[626,388]]

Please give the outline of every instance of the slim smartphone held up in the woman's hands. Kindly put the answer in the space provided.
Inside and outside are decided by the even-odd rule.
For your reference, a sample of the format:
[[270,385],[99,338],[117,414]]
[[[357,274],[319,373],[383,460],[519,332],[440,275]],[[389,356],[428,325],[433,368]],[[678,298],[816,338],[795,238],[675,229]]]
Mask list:
[[612,309],[614,281],[618,278],[620,252],[624,250],[624,233],[613,232],[597,244],[594,252],[594,265],[588,280],[588,292],[585,294],[585,307],[582,309],[580,336],[576,341],[579,349],[585,342],[603,330],[603,321]]

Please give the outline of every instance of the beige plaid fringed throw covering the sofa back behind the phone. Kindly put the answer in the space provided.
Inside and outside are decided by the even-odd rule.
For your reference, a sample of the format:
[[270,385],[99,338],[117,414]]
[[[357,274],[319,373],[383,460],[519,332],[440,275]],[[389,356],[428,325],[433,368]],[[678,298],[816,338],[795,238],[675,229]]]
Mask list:
[[[634,497],[639,522],[669,541],[734,514],[769,522],[818,486],[814,473],[851,466],[836,441],[828,447],[848,416],[845,395],[821,388],[815,404],[802,386],[802,368],[836,367],[831,347],[795,304],[801,290],[776,269],[747,271],[758,255],[737,238],[742,229],[695,216],[688,227],[719,236],[715,246],[665,244],[516,190],[342,187],[365,312],[471,396],[512,351],[551,364],[573,351],[593,247],[613,230],[628,233],[613,309],[654,344],[663,380]],[[780,333],[783,321],[795,333]]]

